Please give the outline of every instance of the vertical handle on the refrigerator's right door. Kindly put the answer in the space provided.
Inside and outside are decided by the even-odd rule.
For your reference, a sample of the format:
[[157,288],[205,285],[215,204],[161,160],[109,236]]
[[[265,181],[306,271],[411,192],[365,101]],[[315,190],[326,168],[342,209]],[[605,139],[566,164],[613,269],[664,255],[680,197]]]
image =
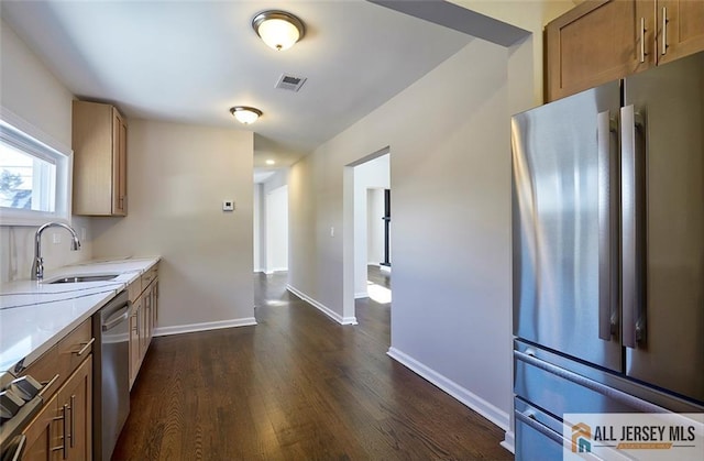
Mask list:
[[645,162],[646,127],[634,106],[620,109],[622,307],[624,345],[646,341]]

